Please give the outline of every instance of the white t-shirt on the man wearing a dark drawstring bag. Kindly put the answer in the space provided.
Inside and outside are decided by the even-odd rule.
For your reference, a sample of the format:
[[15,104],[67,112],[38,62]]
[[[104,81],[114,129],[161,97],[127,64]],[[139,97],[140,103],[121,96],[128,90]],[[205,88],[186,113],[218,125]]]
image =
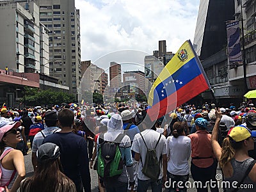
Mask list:
[[[159,143],[157,144],[156,147],[156,156],[157,159],[160,158],[160,156],[166,154],[166,139],[163,134],[159,134],[158,132],[152,130],[152,129],[147,129],[143,132],[141,132],[147,147],[149,149],[153,149],[156,147],[156,143],[159,139],[159,136],[161,135],[161,139]],[[134,140],[132,143],[132,150],[138,154],[140,154],[141,159],[143,161],[143,164],[145,163],[146,155],[147,155],[147,147],[145,146],[145,143],[143,142],[140,133],[136,134],[134,136]],[[160,163],[161,166],[161,171],[158,179],[161,179],[163,177],[163,166],[162,163]],[[149,180],[150,178],[147,177],[142,173],[143,166],[141,164],[141,160],[139,161],[139,166],[138,166],[138,179],[140,180]]]

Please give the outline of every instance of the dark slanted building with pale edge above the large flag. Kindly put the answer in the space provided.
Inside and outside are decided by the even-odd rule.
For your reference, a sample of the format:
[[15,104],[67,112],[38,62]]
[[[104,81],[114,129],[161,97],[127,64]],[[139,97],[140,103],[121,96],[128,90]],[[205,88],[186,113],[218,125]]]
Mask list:
[[194,48],[200,60],[209,58],[227,47],[225,21],[234,20],[234,0],[201,0]]

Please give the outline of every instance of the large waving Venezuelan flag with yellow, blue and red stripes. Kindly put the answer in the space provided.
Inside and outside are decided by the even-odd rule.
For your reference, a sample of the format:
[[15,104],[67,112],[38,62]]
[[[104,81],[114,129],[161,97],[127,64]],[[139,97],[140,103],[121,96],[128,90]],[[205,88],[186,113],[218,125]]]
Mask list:
[[154,121],[210,88],[204,68],[188,40],[152,85],[148,95],[148,116]]

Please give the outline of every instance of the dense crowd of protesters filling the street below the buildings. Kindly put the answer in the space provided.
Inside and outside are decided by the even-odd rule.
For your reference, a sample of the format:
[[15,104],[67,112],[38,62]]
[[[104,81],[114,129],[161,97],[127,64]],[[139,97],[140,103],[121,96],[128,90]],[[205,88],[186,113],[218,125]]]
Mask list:
[[[166,182],[169,191],[187,191],[189,173],[202,183],[197,191],[208,191],[205,186],[209,180],[216,181],[218,164],[223,179],[255,188],[253,131],[256,109],[252,102],[243,102],[239,108],[232,103],[228,108],[184,104],[156,122],[148,118],[147,104],[2,108],[0,188],[91,191],[91,168],[98,172],[99,191],[140,192],[149,186],[153,192],[162,191]],[[122,170],[115,179],[106,179],[99,171],[105,141],[118,143],[120,150]],[[22,181],[23,156],[29,147],[35,173]],[[156,160],[150,166],[149,151],[154,151]],[[219,191],[218,186],[209,188]],[[255,191],[246,189],[250,190]]]

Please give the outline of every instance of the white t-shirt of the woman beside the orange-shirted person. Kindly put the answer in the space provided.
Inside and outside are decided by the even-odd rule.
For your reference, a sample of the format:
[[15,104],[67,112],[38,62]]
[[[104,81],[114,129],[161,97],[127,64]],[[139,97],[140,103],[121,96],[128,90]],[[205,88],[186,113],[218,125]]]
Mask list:
[[188,160],[191,154],[191,140],[187,136],[175,138],[169,136],[166,139],[167,157],[170,157],[167,163],[168,172],[173,175],[188,175]]

